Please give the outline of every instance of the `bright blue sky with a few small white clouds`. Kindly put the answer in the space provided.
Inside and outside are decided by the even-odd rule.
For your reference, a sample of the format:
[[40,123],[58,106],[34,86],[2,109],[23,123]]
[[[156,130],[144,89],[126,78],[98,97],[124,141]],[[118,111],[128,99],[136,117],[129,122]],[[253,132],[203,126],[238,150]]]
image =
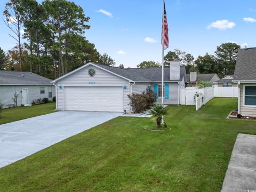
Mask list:
[[[107,53],[115,59],[116,65],[136,67],[144,60],[162,60],[161,0],[74,2],[91,18],[86,38],[101,54]],[[1,0],[1,12],[4,5]],[[166,0],[165,5],[170,39],[165,53],[180,49],[197,57],[206,52],[213,54],[225,42],[256,46],[255,0]],[[0,47],[7,51],[15,42],[2,19],[0,28]]]

